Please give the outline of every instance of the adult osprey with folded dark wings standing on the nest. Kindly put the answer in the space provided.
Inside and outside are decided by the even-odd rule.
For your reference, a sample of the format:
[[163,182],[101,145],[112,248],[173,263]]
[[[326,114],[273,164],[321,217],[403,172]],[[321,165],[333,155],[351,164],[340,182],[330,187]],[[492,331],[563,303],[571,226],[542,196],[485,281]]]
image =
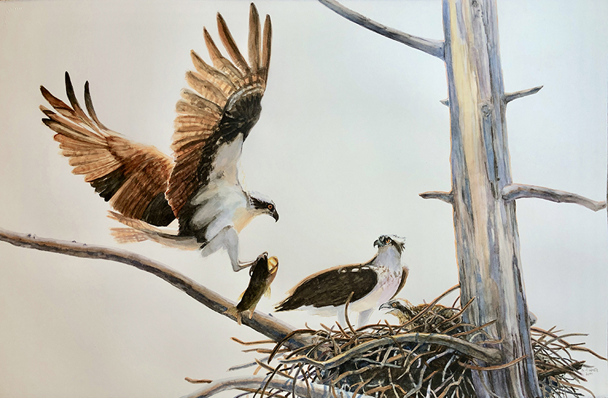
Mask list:
[[380,236],[374,246],[378,253],[365,264],[343,265],[317,272],[298,283],[289,297],[277,304],[277,311],[308,309],[315,314],[338,314],[346,324],[348,309],[358,312],[357,327],[364,326],[374,309],[403,288],[408,268],[401,262],[405,240],[394,235]]

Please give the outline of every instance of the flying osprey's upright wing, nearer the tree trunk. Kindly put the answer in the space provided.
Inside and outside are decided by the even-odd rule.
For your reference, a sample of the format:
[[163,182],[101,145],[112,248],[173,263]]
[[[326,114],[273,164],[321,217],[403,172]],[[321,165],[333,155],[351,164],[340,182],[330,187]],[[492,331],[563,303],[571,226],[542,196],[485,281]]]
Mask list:
[[241,146],[260,116],[262,95],[266,88],[270,62],[272,28],[266,15],[260,46],[260,18],[251,4],[249,15],[248,58],[243,58],[232,34],[217,14],[220,39],[232,62],[222,56],[207,30],[205,43],[213,66],[194,51],[196,71],[186,73],[191,89],[182,91],[177,103],[172,170],[167,199],[178,215],[199,188],[213,179],[238,184],[236,163]]

